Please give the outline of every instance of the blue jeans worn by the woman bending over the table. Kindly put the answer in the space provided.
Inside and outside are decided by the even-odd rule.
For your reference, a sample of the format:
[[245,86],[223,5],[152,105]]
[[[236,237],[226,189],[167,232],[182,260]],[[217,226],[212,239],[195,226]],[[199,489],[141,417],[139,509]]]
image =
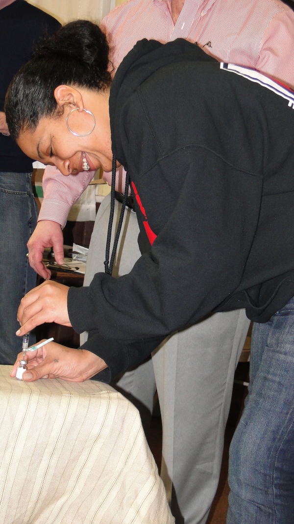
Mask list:
[[294,298],[267,323],[254,325],[229,485],[227,524],[294,522]]

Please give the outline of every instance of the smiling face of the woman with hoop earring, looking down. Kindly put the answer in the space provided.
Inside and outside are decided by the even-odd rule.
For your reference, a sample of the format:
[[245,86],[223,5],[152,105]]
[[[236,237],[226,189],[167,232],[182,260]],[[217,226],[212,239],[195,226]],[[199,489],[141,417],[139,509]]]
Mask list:
[[[106,115],[103,111],[96,112],[96,126],[91,134],[84,137],[73,135],[67,128],[66,116],[71,110],[72,106],[65,106],[61,116],[41,118],[33,132],[27,129],[20,133],[17,140],[19,147],[28,157],[56,166],[64,175],[85,171],[86,163],[91,171],[100,167],[111,171],[108,107]],[[68,122],[78,134],[89,132],[94,124],[93,117],[85,111],[72,112]]]

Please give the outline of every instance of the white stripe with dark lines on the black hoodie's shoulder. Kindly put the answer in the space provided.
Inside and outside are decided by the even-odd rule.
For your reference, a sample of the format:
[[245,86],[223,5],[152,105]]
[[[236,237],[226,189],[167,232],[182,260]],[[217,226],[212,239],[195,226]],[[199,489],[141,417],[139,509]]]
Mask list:
[[288,106],[294,108],[294,92],[289,88],[286,88],[283,85],[278,84],[275,80],[266,77],[264,74],[255,71],[255,69],[250,69],[242,67],[241,65],[228,64],[221,62],[220,68],[225,71],[230,71],[232,73],[240,74],[241,77],[247,78],[252,82],[256,82],[259,85],[262,85],[264,88],[270,89],[279,96],[282,96],[288,100]]

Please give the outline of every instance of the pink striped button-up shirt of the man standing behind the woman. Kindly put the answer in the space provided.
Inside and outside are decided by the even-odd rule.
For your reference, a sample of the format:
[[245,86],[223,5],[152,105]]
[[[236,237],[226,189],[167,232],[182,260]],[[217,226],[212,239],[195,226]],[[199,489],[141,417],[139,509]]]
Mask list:
[[[185,0],[176,24],[171,0],[130,0],[112,10],[101,28],[115,69],[141,38],[163,43],[185,38],[220,61],[257,69],[294,87],[294,12],[279,0]],[[83,172],[64,177],[47,166],[39,220],[63,227],[93,176],[94,172]],[[120,168],[117,179],[124,178]]]

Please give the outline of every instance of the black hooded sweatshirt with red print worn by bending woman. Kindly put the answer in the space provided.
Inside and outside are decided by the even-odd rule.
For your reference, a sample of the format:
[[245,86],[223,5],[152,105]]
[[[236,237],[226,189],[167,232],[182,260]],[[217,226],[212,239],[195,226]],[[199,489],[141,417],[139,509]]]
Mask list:
[[69,291],[82,347],[108,365],[94,378],[210,312],[265,322],[294,295],[294,93],[225,67],[185,40],[142,40],[115,75],[112,150],[144,248],[128,275]]

